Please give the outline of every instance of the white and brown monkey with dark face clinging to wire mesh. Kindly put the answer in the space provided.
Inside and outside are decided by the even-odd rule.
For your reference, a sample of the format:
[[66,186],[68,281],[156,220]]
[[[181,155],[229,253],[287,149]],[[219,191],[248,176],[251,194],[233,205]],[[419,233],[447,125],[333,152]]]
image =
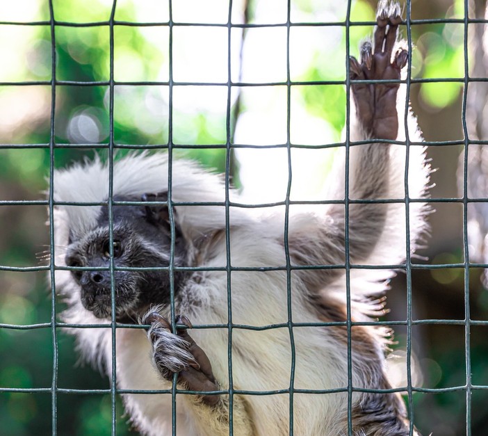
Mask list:
[[422,137],[400,80],[400,15],[381,0],[349,60],[349,146],[329,181],[339,200],[253,210],[221,175],[163,152],[54,172],[61,317],[97,325],[70,330],[84,360],[108,375],[115,364],[141,434],[414,428],[384,370],[389,332],[368,323],[428,231],[425,147],[405,147],[407,132]]

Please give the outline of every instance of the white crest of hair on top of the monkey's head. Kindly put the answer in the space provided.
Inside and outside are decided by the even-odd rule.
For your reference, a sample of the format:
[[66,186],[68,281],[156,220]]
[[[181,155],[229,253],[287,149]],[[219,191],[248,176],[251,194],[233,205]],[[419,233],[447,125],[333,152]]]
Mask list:
[[[168,154],[132,153],[113,163],[113,197],[136,197],[168,191]],[[110,166],[98,155],[92,161],[74,163],[70,168],[54,172],[54,201],[74,203],[107,202]],[[203,171],[195,163],[182,159],[172,161],[172,201],[223,202],[222,177]],[[230,190],[229,195],[233,195]],[[225,223],[225,208],[212,206],[180,207],[179,224],[185,231],[204,234]],[[65,209],[74,236],[86,234],[97,225],[101,206],[58,206]],[[220,212],[220,213],[219,213]]]

